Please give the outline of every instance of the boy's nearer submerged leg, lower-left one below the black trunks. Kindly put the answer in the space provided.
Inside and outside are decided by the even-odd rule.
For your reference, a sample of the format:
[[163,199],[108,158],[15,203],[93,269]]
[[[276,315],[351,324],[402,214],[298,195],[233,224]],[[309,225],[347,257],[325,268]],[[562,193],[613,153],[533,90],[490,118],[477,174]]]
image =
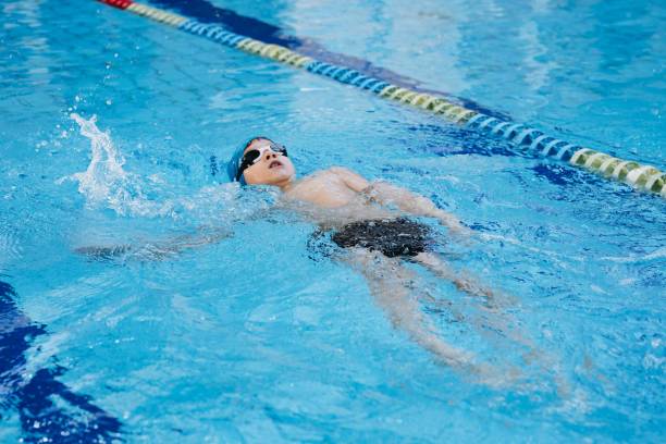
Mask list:
[[408,333],[443,363],[480,372],[480,368],[472,362],[471,353],[445,343],[433,333],[432,326],[411,297],[410,286],[416,275],[407,270],[399,259],[356,248],[345,260],[367,279],[372,296],[386,311],[394,326]]

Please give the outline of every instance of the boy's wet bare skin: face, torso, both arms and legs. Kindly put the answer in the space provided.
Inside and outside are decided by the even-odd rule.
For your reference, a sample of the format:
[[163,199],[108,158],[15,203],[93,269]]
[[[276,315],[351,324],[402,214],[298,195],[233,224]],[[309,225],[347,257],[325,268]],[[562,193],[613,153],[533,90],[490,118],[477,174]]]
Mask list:
[[[395,219],[410,214],[435,218],[448,227],[449,233],[462,238],[471,234],[456,217],[439,209],[430,199],[387,182],[369,182],[345,168],[334,166],[297,180],[296,170],[288,157],[264,149],[270,144],[271,140],[268,139],[255,139],[245,149],[245,152],[251,149],[261,152],[256,163],[243,172],[246,183],[280,188],[280,207],[303,214],[322,230],[341,229],[350,222]],[[148,243],[143,246],[84,247],[77,251],[97,260],[110,259],[120,254],[134,254],[135,258],[141,260],[162,260],[186,249],[220,242],[229,235],[224,230],[205,230],[172,242]],[[439,362],[460,370],[462,374],[477,375],[484,383],[507,382],[495,369],[479,363],[473,354],[447,344],[435,332],[432,321],[423,314],[419,306],[423,300],[422,295],[414,285],[418,278],[412,270],[405,267],[404,259],[388,258],[379,251],[361,247],[346,248],[334,259],[361,273],[368,281],[372,296],[393,325],[432,353]],[[478,280],[469,274],[454,270],[440,256],[423,251],[409,260],[421,264],[434,275],[451,281],[459,291],[478,298],[484,305],[483,310],[499,314],[496,311],[497,295],[493,291],[480,285]],[[519,333],[510,332],[506,326],[513,321],[497,317],[496,320],[484,322],[504,336],[533,349]],[[474,326],[481,329],[481,325]]]

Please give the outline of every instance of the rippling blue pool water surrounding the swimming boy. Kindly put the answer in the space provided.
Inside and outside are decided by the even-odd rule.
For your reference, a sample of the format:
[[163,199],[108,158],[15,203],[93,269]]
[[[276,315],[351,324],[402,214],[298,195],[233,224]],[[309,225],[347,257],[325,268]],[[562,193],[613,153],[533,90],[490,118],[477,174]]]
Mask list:
[[[213,3],[666,166],[659,2]],[[92,1],[0,8],[0,441],[659,441],[664,199]],[[300,175],[345,165],[483,234],[440,252],[510,295],[499,312],[410,269],[437,335],[502,383],[436,363],[308,249],[314,226],[213,174],[256,134]],[[74,252],[201,227],[233,236]]]

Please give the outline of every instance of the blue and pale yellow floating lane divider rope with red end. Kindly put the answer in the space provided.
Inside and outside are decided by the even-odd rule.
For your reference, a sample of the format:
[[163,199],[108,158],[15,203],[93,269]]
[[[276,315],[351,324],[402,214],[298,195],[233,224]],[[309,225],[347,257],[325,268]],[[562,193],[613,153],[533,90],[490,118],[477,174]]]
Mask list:
[[346,85],[366,89],[379,97],[419,108],[453,123],[489,133],[496,137],[503,137],[542,157],[562,160],[606,178],[624,182],[636,189],[655,193],[666,198],[666,173],[655,166],[615,158],[602,151],[570,144],[521,123],[493,118],[482,112],[467,109],[444,97],[414,91],[380,78],[366,76],[346,66],[320,62],[280,45],[264,44],[260,40],[231,33],[215,24],[200,23],[196,20],[132,0],[98,1],[231,48],[240,49],[245,52],[306,70],[312,74],[330,77]]

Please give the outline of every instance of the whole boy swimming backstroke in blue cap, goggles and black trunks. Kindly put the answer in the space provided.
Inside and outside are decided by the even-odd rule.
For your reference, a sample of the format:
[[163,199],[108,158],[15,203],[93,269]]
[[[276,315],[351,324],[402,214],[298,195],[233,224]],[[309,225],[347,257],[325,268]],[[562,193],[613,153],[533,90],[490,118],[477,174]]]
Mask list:
[[[444,342],[419,309],[414,297],[416,273],[405,267],[410,261],[435,275],[451,281],[458,289],[479,298],[484,310],[495,310],[499,295],[479,284],[466,273],[457,272],[430,250],[431,231],[408,219],[437,219],[449,233],[465,238],[471,231],[456,217],[437,208],[430,199],[386,182],[370,183],[344,169],[331,168],[296,180],[296,172],[286,149],[266,137],[243,144],[227,164],[232,181],[242,185],[271,185],[282,193],[279,206],[312,221],[319,233],[330,233],[338,247],[334,258],[358,270],[370,291],[386,311],[393,324],[427,348],[443,363],[489,380],[491,369],[478,362],[469,351]],[[173,242],[143,246],[85,247],[77,251],[90,258],[110,259],[134,252],[136,257],[160,259],[220,240],[225,231],[208,230]],[[503,329],[499,322],[492,325]],[[507,335],[510,333],[507,333]],[[531,347],[518,335],[514,338]]]

